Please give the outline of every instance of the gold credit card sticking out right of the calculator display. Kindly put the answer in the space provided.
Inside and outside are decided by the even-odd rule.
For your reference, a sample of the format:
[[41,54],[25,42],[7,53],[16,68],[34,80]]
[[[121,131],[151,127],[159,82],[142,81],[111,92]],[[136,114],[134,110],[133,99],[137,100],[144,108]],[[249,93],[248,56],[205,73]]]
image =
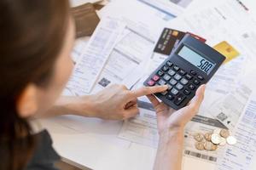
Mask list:
[[226,59],[224,60],[224,63],[229,62],[231,59],[234,59],[239,55],[239,52],[236,50],[236,48],[233,48],[226,41],[219,42],[213,48],[217,50],[218,53],[223,54],[226,57]]

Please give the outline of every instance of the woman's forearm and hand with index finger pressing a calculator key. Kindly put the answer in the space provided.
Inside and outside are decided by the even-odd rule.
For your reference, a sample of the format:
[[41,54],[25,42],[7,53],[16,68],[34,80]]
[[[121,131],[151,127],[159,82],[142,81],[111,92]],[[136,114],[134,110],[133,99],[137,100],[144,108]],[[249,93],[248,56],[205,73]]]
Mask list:
[[112,85],[93,95],[62,96],[44,116],[79,115],[108,120],[124,120],[138,113],[137,98],[163,92],[167,86],[128,90],[124,85]]

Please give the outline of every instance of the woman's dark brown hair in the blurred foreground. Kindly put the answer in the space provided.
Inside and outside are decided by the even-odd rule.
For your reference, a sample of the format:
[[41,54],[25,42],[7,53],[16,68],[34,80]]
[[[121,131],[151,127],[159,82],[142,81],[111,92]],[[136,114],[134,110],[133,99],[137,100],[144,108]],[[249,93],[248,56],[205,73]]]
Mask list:
[[47,87],[67,33],[67,0],[0,1],[0,169],[20,170],[35,146],[16,103],[30,82]]

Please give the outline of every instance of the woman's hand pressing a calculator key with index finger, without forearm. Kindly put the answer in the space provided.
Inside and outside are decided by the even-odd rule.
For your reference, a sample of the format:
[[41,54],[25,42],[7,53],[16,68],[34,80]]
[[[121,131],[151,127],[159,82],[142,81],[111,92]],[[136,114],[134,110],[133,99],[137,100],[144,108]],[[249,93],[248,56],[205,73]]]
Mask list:
[[90,97],[95,116],[102,119],[124,120],[138,114],[137,98],[163,92],[167,86],[129,90],[124,85],[112,85]]

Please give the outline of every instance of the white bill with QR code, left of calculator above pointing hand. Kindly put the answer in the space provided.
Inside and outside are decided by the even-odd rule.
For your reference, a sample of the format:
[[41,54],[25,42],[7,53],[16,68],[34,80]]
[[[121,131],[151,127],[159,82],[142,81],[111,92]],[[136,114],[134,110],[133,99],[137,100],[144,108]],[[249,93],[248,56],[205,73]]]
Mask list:
[[[154,38],[141,23],[122,21],[125,22],[125,30],[113,47],[92,94],[114,83],[131,88],[143,76],[144,65],[154,48]],[[145,32],[149,32],[147,36]]]

